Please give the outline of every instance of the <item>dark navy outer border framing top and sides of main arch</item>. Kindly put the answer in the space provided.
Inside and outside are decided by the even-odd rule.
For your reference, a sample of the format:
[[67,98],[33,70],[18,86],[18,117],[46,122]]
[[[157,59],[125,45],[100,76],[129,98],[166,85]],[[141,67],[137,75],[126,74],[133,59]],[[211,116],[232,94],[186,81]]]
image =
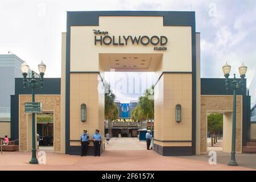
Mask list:
[[71,26],[98,26],[99,16],[163,16],[163,26],[191,26],[192,36],[192,150],[196,154],[196,24],[195,11],[68,11],[66,39],[65,153],[69,154],[69,89]]

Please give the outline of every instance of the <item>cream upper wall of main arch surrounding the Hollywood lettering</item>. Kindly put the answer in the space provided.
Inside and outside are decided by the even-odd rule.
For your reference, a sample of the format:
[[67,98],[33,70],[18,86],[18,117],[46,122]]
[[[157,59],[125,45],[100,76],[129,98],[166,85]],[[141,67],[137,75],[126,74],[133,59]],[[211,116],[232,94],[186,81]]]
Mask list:
[[[94,45],[93,30],[108,31],[109,36],[154,36],[168,38],[167,51],[156,46]],[[163,53],[162,71],[192,71],[192,39],[189,26],[163,26],[162,16],[100,16],[99,26],[71,27],[71,71],[100,71],[99,53]],[[177,61],[178,60],[178,61]]]

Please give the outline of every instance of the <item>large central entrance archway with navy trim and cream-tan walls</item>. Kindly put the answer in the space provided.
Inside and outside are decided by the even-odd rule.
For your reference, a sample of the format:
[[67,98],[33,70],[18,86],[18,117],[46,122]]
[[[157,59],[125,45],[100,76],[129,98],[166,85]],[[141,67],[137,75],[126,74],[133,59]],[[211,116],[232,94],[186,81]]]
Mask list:
[[[200,37],[195,13],[68,12],[67,20],[61,85],[66,154],[79,154],[82,130],[90,135],[96,128],[104,131],[104,93],[96,90],[104,87],[105,71],[127,68],[155,72],[154,150],[162,155],[196,154],[196,92],[200,90],[196,41]],[[147,37],[154,40],[147,44]],[[166,42],[158,44],[156,37]],[[88,111],[86,122],[80,121],[82,103]],[[176,119],[176,105],[182,107],[181,122]]]

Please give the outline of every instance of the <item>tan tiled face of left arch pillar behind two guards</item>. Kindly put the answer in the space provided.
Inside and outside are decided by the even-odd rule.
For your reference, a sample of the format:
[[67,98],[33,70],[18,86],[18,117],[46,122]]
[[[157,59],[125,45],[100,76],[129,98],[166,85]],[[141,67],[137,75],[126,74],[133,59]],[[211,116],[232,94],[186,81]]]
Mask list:
[[[98,73],[70,74],[70,140],[80,140],[82,130],[88,130],[90,137],[96,129],[104,137],[104,91]],[[86,104],[86,121],[80,120],[80,106]],[[81,145],[72,141],[71,146]],[[92,142],[90,143],[92,145]]]

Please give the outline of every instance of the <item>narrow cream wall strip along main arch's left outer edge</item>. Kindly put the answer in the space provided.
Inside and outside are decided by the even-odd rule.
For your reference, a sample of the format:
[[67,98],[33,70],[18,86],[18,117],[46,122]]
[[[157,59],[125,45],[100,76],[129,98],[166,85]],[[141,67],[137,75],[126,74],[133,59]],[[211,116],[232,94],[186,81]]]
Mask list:
[[60,152],[65,154],[65,113],[66,113],[66,33],[61,34],[61,82],[60,82],[60,104],[61,104],[61,111],[60,111]]

